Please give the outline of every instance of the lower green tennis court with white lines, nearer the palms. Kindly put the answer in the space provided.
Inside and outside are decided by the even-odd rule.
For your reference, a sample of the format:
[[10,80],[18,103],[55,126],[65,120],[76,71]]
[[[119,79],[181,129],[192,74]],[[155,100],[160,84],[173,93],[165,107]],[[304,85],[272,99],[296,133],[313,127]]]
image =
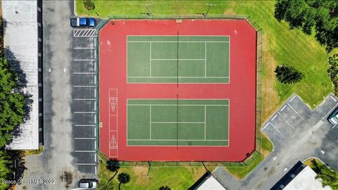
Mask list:
[[128,146],[228,146],[229,100],[127,99]]

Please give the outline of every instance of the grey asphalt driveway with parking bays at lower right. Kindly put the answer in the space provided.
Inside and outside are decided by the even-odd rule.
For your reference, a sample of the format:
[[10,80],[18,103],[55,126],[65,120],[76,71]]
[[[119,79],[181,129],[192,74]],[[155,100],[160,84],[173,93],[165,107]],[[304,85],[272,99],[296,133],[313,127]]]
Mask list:
[[274,150],[245,179],[234,179],[223,167],[213,174],[227,189],[270,189],[298,160],[317,157],[338,169],[338,127],[327,122],[327,115],[338,106],[330,94],[315,110],[293,94],[271,118],[262,131],[273,141]]

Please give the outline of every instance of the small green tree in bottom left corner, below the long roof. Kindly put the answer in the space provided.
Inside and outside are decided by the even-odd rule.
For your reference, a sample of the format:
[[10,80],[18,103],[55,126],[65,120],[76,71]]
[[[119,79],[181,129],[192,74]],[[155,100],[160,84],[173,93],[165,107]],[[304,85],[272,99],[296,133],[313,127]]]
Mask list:
[[11,164],[11,157],[4,151],[0,151],[0,189],[7,189],[8,184],[1,183],[2,180],[8,180],[11,177],[11,170],[8,166]]

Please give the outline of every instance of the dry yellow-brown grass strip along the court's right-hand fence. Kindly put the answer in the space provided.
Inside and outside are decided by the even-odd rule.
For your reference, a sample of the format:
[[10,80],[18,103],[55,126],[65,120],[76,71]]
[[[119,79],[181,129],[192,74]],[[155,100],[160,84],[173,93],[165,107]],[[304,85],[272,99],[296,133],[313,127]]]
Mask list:
[[273,46],[276,46],[273,40],[268,39],[266,34],[263,34],[263,79],[262,79],[262,120],[267,120],[271,113],[275,111],[280,103],[277,91],[275,89],[275,68],[277,62],[271,53]]

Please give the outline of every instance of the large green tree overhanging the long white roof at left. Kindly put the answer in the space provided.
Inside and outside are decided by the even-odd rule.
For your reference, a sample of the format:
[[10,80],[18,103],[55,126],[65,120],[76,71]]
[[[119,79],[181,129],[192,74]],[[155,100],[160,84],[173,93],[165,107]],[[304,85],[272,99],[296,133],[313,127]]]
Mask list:
[[26,97],[11,66],[0,56],[0,147],[11,141],[11,133],[25,117]]

